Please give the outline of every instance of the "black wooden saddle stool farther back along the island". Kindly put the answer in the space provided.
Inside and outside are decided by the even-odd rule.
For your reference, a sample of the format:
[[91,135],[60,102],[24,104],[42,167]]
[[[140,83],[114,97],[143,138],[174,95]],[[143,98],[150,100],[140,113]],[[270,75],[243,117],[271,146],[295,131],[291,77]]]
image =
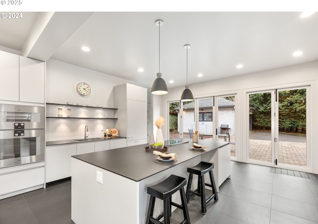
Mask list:
[[[214,198],[214,201],[219,201],[218,193],[216,191],[215,181],[213,177],[214,163],[200,162],[198,165],[190,167],[187,169],[189,174],[189,180],[186,190],[187,201],[189,202],[189,198],[192,194],[199,195],[201,197],[201,212],[202,214],[206,214],[207,212],[207,203]],[[209,172],[211,184],[207,184],[204,181],[204,174]],[[198,175],[198,188],[194,191],[190,190],[192,185],[193,174]],[[205,195],[205,186],[209,186],[212,188],[212,195],[206,199]]]

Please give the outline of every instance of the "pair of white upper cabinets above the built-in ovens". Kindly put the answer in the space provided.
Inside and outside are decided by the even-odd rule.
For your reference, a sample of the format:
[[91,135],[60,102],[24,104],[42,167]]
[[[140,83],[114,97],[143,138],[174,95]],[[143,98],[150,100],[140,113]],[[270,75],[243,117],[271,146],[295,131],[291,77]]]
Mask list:
[[0,51],[0,100],[44,103],[45,62]]

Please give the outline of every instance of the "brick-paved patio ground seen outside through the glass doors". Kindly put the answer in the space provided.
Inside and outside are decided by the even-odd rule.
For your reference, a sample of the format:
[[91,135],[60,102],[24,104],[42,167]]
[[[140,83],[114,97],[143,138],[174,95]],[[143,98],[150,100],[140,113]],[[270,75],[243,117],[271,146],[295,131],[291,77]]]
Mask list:
[[[251,134],[259,134],[261,132],[253,132]],[[190,138],[189,133],[183,133],[184,138]],[[261,136],[267,138],[266,133],[261,133]],[[170,139],[179,138],[179,133],[170,133]],[[251,138],[251,137],[250,137]],[[260,140],[249,139],[249,158],[261,161],[271,161],[271,141],[270,140]],[[200,138],[201,139],[201,138]],[[213,137],[203,137],[203,140],[212,140]],[[285,134],[282,136],[285,141],[279,141],[279,152],[278,160],[280,163],[306,166],[306,137],[299,137]],[[224,141],[223,138],[219,138],[220,141]],[[288,141],[287,141],[288,140]],[[294,142],[294,141],[295,142]],[[297,142],[296,142],[297,141]],[[301,141],[301,142],[300,142]],[[305,142],[304,142],[305,141]],[[235,156],[235,136],[230,135],[231,142],[231,156]]]

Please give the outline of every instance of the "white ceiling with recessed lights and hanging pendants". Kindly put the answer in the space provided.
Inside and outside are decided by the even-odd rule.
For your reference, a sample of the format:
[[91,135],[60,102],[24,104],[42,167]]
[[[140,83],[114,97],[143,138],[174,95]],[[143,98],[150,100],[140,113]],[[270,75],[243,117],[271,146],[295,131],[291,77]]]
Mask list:
[[[53,58],[151,88],[168,88],[318,60],[318,13],[25,12],[0,20],[0,46]],[[185,44],[188,49],[188,64]],[[90,48],[89,52],[81,50]],[[3,48],[4,47],[4,48]],[[303,55],[293,57],[296,50]],[[242,64],[241,69],[236,66]],[[138,72],[143,68],[144,72]],[[198,77],[201,73],[203,76]],[[174,83],[169,83],[173,80]]]

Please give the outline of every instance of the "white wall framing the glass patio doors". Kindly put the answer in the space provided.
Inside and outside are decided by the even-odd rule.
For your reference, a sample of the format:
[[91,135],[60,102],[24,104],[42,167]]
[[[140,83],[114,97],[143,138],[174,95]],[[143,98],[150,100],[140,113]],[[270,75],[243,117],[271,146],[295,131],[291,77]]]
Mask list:
[[[238,161],[246,161],[245,149],[247,147],[248,129],[246,93],[300,86],[311,86],[309,93],[311,105],[308,108],[310,123],[307,128],[307,134],[309,135],[308,148],[311,149],[312,153],[312,160],[310,161],[312,171],[318,173],[318,61],[197,83],[190,85],[189,88],[195,98],[237,94],[236,152]],[[164,108],[165,118],[167,117],[167,102],[179,100],[183,89],[183,87],[169,89],[167,95],[160,96],[162,102],[160,108]],[[159,100],[157,99],[156,102],[158,103]],[[163,128],[165,139],[167,133],[167,127],[165,126]]]

